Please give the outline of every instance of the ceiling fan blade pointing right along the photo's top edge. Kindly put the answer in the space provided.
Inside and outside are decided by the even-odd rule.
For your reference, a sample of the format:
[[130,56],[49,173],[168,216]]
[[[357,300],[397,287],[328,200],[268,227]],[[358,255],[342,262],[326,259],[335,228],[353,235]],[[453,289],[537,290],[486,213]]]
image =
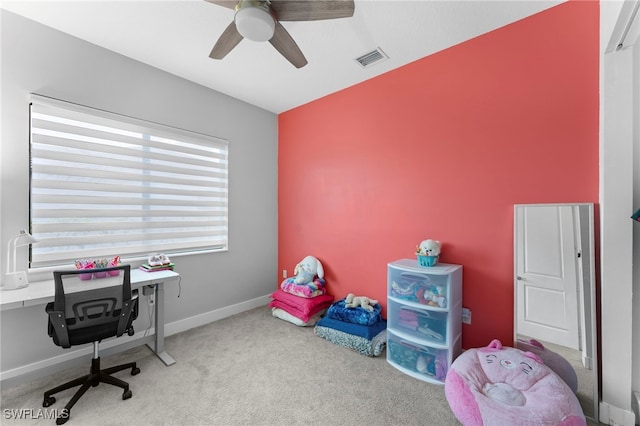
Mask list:
[[278,21],[319,21],[353,16],[353,0],[271,0]]

